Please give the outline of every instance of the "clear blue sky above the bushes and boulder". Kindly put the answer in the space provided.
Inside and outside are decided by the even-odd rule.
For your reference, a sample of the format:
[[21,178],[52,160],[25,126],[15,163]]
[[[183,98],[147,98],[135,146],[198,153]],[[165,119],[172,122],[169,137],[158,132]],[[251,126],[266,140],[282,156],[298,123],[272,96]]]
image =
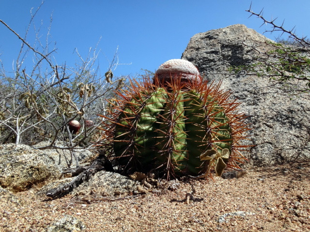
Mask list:
[[[101,38],[98,62],[101,73],[118,49],[120,65],[117,76],[135,76],[141,69],[154,72],[158,66],[172,58],[181,58],[190,38],[200,32],[244,24],[263,33],[268,29],[262,20],[247,10],[259,13],[262,8],[267,19],[285,19],[284,27],[296,26],[299,36],[310,35],[310,0],[46,0],[35,17],[34,25],[46,43],[47,28],[50,48],[57,48],[55,59],[59,65],[73,66],[78,60],[75,48],[84,58],[90,47]],[[0,0],[0,19],[22,37],[31,18],[30,10],[41,0]],[[34,44],[31,26],[27,42]],[[264,34],[275,39],[276,34]],[[56,45],[54,44],[56,42]],[[20,48],[17,37],[0,24],[0,59],[7,72],[12,71]],[[26,70],[29,67],[26,66]]]

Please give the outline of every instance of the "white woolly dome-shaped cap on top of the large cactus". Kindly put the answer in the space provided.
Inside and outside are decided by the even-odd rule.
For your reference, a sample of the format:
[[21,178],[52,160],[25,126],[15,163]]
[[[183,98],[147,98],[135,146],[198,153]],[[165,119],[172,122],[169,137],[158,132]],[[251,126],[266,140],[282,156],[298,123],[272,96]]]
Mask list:
[[185,59],[170,59],[159,66],[156,71],[159,79],[170,79],[171,75],[182,76],[182,79],[201,82],[198,69]]

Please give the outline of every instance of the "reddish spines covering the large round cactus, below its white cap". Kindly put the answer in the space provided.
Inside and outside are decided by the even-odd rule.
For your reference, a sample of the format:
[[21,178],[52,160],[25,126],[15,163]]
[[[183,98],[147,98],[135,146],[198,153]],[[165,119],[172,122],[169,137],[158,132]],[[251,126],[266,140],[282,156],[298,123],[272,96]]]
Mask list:
[[[235,113],[239,103],[229,101],[230,93],[221,91],[219,87],[220,83],[208,86],[203,82],[197,85],[195,82],[184,83],[181,78],[175,77],[170,82],[160,81],[156,77],[153,81],[144,78],[142,84],[131,81],[129,89],[117,92],[118,98],[109,102],[113,107],[108,115],[103,116],[106,120],[102,127],[102,143],[106,147],[110,145],[110,148],[114,148],[116,158],[127,171],[150,171],[156,168],[164,171],[167,178],[205,172],[206,161],[201,162],[200,154],[189,154],[187,150],[186,144],[192,138],[199,144],[197,147],[200,153],[206,149],[221,150],[222,145],[228,145],[230,156],[227,168],[238,169],[238,163],[245,160],[241,151],[248,147],[242,145],[241,141],[247,139],[244,132],[249,129],[244,123],[245,116]],[[189,97],[191,95],[193,97]],[[152,97],[157,98],[156,103],[149,102]],[[185,102],[190,102],[191,105],[178,107]],[[166,106],[158,107],[157,104]],[[195,107],[196,112],[203,113],[186,117],[186,113]],[[220,116],[217,118],[218,115]],[[226,119],[223,119],[223,116]],[[150,117],[151,128],[145,128],[147,124],[141,125],[141,117]],[[202,123],[196,123],[193,117],[200,117]],[[196,130],[186,131],[185,124],[192,124],[194,127],[196,125]],[[144,133],[141,132],[143,126],[143,130],[151,129],[146,133],[148,138],[139,137]],[[223,127],[229,128],[230,134],[226,139],[220,138],[224,136],[221,130],[226,130],[221,129]],[[202,135],[195,136],[197,133]],[[149,146],[149,140],[156,142]],[[143,143],[146,143],[147,147],[143,146]],[[193,168],[197,163],[198,167]]]

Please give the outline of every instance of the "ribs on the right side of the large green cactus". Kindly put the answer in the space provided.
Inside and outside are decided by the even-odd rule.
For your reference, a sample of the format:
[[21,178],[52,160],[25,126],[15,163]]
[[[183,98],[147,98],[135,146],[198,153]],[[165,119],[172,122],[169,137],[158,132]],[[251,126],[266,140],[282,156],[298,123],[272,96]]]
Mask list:
[[190,100],[185,102],[188,118],[186,133],[190,138],[187,143],[188,169],[191,173],[198,174],[206,166],[203,165],[200,154],[209,149],[221,152],[228,148],[231,151],[232,135],[228,117],[212,97],[195,90],[191,90],[188,95]]

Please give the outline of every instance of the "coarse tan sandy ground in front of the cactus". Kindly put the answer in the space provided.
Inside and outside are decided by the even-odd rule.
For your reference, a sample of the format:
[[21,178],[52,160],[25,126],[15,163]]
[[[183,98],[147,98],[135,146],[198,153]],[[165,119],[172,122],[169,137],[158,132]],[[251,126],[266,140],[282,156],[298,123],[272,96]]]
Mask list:
[[248,167],[240,178],[187,180],[174,191],[114,199],[71,194],[48,200],[35,193],[0,196],[1,232],[46,231],[65,215],[90,232],[310,232],[309,162]]

